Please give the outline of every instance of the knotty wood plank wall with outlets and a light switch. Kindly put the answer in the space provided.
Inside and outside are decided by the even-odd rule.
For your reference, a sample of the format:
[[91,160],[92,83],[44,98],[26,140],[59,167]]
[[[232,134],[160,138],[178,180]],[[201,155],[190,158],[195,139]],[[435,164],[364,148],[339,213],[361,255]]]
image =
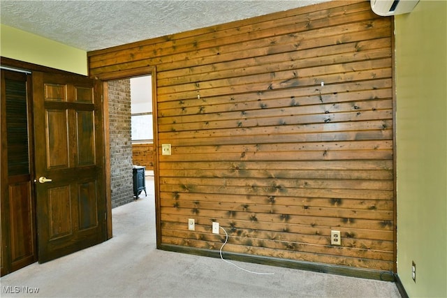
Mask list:
[[332,1],[89,52],[156,66],[161,243],[219,250],[218,221],[224,251],[393,271],[392,20]]

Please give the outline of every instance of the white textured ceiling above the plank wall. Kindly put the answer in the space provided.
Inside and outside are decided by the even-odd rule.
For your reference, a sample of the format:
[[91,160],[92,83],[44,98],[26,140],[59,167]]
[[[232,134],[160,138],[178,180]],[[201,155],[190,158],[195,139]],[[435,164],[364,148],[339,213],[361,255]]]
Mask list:
[[325,1],[1,0],[0,22],[91,51]]

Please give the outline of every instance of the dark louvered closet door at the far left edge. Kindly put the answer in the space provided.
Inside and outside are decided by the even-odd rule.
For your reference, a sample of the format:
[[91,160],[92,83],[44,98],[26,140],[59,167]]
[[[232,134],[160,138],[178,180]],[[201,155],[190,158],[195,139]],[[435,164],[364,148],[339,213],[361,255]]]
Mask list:
[[1,276],[37,260],[29,80],[1,70]]

